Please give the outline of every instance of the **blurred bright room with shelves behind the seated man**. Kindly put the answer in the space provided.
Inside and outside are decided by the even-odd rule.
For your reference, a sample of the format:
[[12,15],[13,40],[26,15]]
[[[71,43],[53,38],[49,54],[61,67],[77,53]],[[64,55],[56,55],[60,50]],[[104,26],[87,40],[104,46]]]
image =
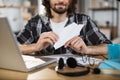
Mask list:
[[[89,15],[108,39],[120,43],[120,0],[78,0],[76,6],[77,12]],[[44,14],[41,0],[0,0],[0,17],[8,18],[15,34],[36,14]]]

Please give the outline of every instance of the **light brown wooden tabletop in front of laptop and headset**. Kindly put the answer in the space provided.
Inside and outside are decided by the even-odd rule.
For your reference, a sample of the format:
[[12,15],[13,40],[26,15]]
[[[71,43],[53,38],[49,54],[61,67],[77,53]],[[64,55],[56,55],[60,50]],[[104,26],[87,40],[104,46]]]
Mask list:
[[0,69],[0,80],[120,80],[120,76],[93,74],[91,72],[85,76],[63,76],[56,73],[55,66],[56,63],[53,63],[28,73]]

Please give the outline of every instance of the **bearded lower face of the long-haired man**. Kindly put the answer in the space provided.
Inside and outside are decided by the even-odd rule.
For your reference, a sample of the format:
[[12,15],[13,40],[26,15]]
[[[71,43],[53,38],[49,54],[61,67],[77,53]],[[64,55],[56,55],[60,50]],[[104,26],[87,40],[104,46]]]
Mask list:
[[63,14],[68,10],[71,0],[50,0],[51,9],[58,13]]

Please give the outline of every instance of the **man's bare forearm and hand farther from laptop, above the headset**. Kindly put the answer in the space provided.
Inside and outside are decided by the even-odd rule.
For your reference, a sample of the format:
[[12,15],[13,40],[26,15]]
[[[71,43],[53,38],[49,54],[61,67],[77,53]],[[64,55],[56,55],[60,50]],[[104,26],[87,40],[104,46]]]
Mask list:
[[70,39],[66,44],[64,45],[66,47],[70,47],[76,52],[84,53],[84,54],[92,54],[92,55],[98,55],[98,54],[107,54],[108,48],[107,44],[99,44],[99,45],[93,45],[93,46],[86,46],[84,41],[80,37],[74,37]]

